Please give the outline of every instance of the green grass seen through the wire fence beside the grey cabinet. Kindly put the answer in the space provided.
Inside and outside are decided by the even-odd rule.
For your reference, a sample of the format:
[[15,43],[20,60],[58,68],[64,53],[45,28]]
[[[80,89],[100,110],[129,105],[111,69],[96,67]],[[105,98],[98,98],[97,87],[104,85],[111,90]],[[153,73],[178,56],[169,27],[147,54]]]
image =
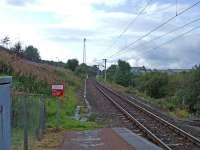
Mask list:
[[[26,102],[26,103],[25,103]],[[25,107],[24,107],[25,105]],[[36,129],[39,125],[39,97],[12,96],[11,137],[12,149],[22,150],[24,140],[24,108],[27,108],[27,130],[29,146],[37,140]]]

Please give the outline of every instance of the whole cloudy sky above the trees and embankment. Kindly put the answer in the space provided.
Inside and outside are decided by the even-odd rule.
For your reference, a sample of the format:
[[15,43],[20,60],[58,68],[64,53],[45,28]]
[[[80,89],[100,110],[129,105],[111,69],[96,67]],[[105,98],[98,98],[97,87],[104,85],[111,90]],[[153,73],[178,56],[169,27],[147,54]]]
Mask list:
[[[149,68],[191,68],[200,64],[200,29],[161,45],[192,28],[200,20],[161,39],[148,42],[200,18],[200,4],[177,16],[150,36],[123,48],[176,15],[176,0],[152,0],[131,24],[149,0],[0,0],[0,38],[34,45],[42,59],[82,62],[83,38],[87,39],[87,63],[103,58],[110,63],[127,60],[132,66]],[[198,0],[178,0],[180,13]],[[156,48],[157,47],[157,48]],[[113,57],[119,50],[124,50]],[[98,61],[100,60],[100,61]]]

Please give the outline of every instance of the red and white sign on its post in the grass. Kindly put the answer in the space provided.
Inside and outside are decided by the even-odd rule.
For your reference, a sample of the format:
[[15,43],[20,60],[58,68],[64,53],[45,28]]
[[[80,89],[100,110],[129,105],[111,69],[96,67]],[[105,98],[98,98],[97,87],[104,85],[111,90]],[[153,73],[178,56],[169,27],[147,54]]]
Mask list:
[[[55,97],[64,96],[64,85],[57,84],[51,86],[51,95]],[[56,100],[56,127],[60,125],[60,98]]]

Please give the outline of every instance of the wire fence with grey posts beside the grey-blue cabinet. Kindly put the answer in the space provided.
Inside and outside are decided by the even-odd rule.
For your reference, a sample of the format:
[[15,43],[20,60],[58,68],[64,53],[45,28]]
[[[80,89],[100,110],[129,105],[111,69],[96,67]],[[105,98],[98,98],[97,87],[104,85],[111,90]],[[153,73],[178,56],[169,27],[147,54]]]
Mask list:
[[11,137],[13,150],[32,150],[45,131],[45,97],[13,94]]

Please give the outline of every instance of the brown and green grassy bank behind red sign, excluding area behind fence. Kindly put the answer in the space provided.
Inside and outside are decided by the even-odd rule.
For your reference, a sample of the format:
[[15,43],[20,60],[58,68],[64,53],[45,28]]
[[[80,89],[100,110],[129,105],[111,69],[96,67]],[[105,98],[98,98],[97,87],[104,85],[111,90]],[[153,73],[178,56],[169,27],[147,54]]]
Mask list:
[[[59,65],[58,65],[59,66]],[[77,91],[82,87],[84,76],[79,72],[46,63],[37,63],[21,58],[0,47],[0,75],[13,77],[12,93],[39,94],[46,100],[47,127],[56,126],[56,98],[51,96],[51,84],[64,84],[65,96],[61,98],[60,127],[65,129],[89,129],[95,122],[81,122],[72,118],[78,103]]]

